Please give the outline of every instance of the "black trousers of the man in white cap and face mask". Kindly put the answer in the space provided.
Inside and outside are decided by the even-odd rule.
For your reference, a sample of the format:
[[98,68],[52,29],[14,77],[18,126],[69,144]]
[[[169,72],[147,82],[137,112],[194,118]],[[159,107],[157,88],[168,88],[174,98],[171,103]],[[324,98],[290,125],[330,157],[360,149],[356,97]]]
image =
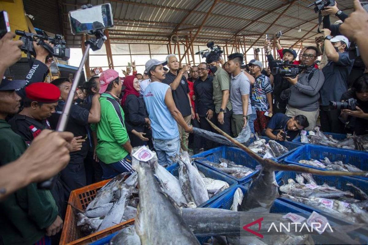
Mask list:
[[319,118],[321,120],[321,130],[326,133],[344,133],[344,125],[339,119],[339,110],[330,110],[328,106],[321,106]]

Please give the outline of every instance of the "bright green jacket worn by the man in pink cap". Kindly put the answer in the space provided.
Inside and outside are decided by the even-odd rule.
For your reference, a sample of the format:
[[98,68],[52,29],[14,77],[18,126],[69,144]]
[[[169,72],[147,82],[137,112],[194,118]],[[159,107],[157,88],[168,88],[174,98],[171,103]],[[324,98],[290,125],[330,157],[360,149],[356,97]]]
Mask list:
[[97,131],[96,154],[104,163],[118,162],[128,155],[122,146],[129,140],[124,112],[119,102],[110,94],[101,94],[100,104],[100,122],[91,125],[92,130]]

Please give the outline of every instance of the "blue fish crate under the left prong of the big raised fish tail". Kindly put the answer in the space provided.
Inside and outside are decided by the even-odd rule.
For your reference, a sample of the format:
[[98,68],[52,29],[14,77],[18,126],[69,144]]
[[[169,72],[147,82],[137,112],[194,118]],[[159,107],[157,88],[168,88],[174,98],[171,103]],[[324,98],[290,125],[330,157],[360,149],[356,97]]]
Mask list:
[[209,167],[210,169],[213,169],[219,173],[222,173],[230,177],[231,179],[236,180],[239,184],[244,184],[246,186],[249,186],[252,176],[254,176],[255,174],[258,174],[259,172],[259,170],[256,170],[253,173],[249,174],[248,176],[238,179],[234,176],[231,176],[230,174],[224,173],[221,170],[216,169],[215,167],[212,167],[212,166],[207,165],[206,163],[203,163],[203,161],[205,160],[217,163],[219,162],[220,158],[225,158],[225,159],[235,162],[238,165],[251,167],[252,169],[255,169],[255,167],[259,165],[259,163],[255,159],[253,159],[250,155],[248,155],[247,152],[243,151],[242,149],[236,148],[236,147],[220,146],[220,147],[210,149],[208,151],[201,152],[197,155],[193,155],[192,158],[203,158],[203,159],[197,159],[195,161],[201,163],[202,165],[205,165],[206,167]]

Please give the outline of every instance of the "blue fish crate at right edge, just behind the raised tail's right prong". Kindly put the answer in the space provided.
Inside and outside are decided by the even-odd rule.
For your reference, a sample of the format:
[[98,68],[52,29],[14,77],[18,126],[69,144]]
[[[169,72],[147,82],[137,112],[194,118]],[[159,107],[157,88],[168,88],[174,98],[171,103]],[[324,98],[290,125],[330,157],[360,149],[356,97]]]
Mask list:
[[[285,158],[285,162],[288,164],[296,164],[305,167],[312,167],[315,169],[326,170],[319,167],[313,167],[299,163],[300,160],[323,160],[325,157],[330,159],[331,162],[342,161],[343,163],[349,163],[363,171],[368,171],[368,152],[365,151],[352,151],[348,149],[339,149],[333,147],[325,147],[320,145],[303,145],[297,148],[294,152],[289,154]],[[364,179],[366,177],[356,176],[354,178]]]

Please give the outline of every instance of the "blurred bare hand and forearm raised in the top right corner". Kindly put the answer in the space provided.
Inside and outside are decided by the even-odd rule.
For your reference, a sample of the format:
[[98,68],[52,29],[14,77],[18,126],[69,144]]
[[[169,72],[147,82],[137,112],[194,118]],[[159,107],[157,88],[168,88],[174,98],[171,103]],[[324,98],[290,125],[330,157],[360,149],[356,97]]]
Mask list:
[[361,59],[368,67],[368,13],[358,0],[354,0],[354,10],[339,29],[357,44]]

